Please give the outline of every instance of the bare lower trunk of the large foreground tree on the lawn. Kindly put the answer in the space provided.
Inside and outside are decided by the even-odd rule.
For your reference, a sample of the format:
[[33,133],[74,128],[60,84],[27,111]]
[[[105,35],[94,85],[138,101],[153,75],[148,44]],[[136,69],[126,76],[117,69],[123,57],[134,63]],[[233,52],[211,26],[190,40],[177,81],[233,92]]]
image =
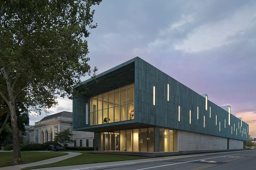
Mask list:
[[13,129],[13,164],[18,164],[21,161],[21,156],[19,142],[19,127],[14,102],[11,102],[9,108],[11,115],[11,126]]

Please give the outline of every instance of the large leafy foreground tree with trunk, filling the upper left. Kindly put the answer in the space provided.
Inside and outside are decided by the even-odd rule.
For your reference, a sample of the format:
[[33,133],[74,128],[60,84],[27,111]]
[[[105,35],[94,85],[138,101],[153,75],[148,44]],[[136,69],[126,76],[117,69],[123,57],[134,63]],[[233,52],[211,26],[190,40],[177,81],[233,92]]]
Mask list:
[[[80,77],[91,70],[86,37],[101,0],[0,0],[0,97],[13,129],[13,164],[21,161],[16,110],[41,113],[72,98]],[[19,103],[19,104],[17,104]]]

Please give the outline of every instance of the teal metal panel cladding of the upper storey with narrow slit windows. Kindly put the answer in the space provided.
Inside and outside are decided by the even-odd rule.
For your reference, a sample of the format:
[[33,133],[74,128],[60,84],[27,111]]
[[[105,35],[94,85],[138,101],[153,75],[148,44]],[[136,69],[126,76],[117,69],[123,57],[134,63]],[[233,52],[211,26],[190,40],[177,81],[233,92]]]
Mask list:
[[[126,69],[127,66],[127,69]],[[125,71],[128,79],[115,79],[119,70],[121,73]],[[111,75],[111,73],[113,73]],[[228,112],[208,100],[208,110],[205,109],[205,97],[191,90],[187,86],[173,79],[169,75],[163,73],[151,64],[148,64],[139,57],[135,57],[115,68],[112,68],[96,77],[96,80],[104,81],[104,77],[115,80],[113,88],[108,86],[107,89],[97,86],[96,82],[89,79],[83,83],[88,84],[89,91],[101,88],[98,93],[104,93],[121,87],[125,83],[134,83],[134,120],[113,122],[108,124],[100,124],[89,126],[85,124],[85,103],[89,103],[88,99],[93,92],[85,93],[85,95],[73,100],[73,126],[74,130],[84,130],[90,132],[102,132],[104,130],[121,130],[122,128],[140,128],[140,127],[164,127],[176,130],[186,130],[189,132],[203,133],[220,137],[232,138],[247,141],[249,138],[249,125],[245,122],[230,115],[230,126],[228,125]],[[91,84],[91,85],[90,85]],[[119,86],[120,84],[120,86]],[[167,101],[167,84],[169,84],[169,101]],[[100,85],[102,86],[102,85]],[[153,86],[156,88],[155,106],[153,105]],[[80,86],[76,87],[77,89]],[[105,91],[104,91],[105,90]],[[210,96],[209,96],[210,97]],[[89,106],[90,104],[88,104]],[[180,106],[180,121],[178,121],[178,106]],[[198,107],[198,119],[197,119]],[[210,118],[211,107],[211,118]],[[90,108],[88,107],[88,113]],[[191,124],[189,124],[189,110],[191,110]],[[89,115],[89,114],[88,114]],[[217,125],[215,120],[217,115]],[[205,117],[205,127],[204,127]],[[226,120],[226,126],[225,126]],[[88,120],[90,123],[90,120]],[[219,131],[219,122],[221,130]],[[239,122],[239,129],[238,129]],[[235,129],[234,131],[234,123]],[[231,127],[232,132],[231,132]],[[243,130],[240,133],[240,128]],[[157,142],[157,141],[155,141]],[[156,150],[155,150],[156,152]]]

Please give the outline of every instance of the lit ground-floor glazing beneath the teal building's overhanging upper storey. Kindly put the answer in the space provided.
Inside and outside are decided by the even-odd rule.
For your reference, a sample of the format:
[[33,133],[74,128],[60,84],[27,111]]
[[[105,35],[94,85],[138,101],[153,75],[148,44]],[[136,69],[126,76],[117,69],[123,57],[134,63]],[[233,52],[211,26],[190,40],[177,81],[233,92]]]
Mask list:
[[[159,152],[177,151],[177,131],[159,129]],[[154,127],[100,133],[102,151],[154,152]]]

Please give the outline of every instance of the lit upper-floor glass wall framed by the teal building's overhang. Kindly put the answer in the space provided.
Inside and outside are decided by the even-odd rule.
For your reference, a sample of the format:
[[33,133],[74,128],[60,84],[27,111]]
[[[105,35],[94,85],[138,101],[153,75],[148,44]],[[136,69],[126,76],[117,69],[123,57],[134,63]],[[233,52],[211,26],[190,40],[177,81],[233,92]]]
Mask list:
[[91,125],[134,119],[134,84],[90,98]]

